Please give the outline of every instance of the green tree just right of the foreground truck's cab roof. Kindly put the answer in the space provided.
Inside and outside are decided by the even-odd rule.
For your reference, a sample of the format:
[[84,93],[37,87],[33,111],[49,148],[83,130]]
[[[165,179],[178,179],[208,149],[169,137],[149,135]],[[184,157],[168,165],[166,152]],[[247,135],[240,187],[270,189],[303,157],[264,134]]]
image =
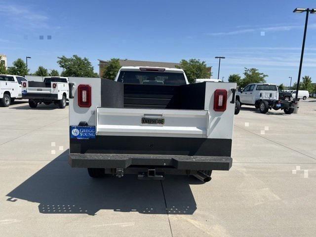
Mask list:
[[210,78],[212,75],[208,72],[205,61],[199,59],[181,60],[180,65],[176,68],[181,68],[187,75],[189,83],[194,83],[198,78]]

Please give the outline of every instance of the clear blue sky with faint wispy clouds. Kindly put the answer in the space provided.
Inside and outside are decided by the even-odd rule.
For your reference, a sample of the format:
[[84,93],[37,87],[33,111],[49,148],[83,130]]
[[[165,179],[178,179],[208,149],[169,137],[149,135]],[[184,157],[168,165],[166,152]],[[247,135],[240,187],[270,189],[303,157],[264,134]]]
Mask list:
[[[258,68],[269,82],[297,79],[305,14],[315,0],[0,0],[0,53],[8,66],[31,56],[38,66],[57,69],[57,56],[179,62],[198,58],[217,77]],[[264,32],[264,36],[261,36]],[[47,36],[51,40],[47,40]],[[44,40],[40,40],[44,36]],[[316,82],[316,14],[310,15],[302,76]],[[293,82],[292,82],[293,83]]]

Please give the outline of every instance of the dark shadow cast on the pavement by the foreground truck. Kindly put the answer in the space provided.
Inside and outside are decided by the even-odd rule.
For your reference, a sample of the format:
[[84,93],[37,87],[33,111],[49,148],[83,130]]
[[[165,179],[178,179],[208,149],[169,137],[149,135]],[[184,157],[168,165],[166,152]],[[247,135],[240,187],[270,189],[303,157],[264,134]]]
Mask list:
[[[68,150],[49,162],[6,196],[17,205],[19,199],[39,204],[43,214],[80,213],[99,210],[143,214],[193,214],[197,205],[189,184],[202,184],[192,177],[167,176],[163,181],[122,178],[92,179],[86,169],[71,168]],[[18,210],[17,210],[18,212]]]

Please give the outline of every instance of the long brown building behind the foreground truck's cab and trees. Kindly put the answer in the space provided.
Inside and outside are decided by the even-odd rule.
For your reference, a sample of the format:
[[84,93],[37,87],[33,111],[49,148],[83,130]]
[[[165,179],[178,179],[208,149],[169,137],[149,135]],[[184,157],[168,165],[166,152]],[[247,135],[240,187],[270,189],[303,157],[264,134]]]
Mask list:
[[[102,78],[104,69],[108,65],[109,60],[99,60],[99,76]],[[128,60],[119,59],[119,64],[121,67],[161,67],[161,68],[175,68],[180,66],[180,63],[167,63],[167,62],[153,62],[153,61],[138,61],[138,60]],[[211,73],[212,67],[207,67],[207,71]]]

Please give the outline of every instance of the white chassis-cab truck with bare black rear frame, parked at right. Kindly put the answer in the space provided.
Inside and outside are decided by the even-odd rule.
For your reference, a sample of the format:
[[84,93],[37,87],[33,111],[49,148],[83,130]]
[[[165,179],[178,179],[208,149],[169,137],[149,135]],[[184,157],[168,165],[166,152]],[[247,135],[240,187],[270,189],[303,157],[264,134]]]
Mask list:
[[292,114],[297,105],[296,100],[279,100],[276,84],[252,83],[245,88],[238,88],[236,103],[241,105],[253,105],[265,114],[269,109],[283,110],[285,114]]

